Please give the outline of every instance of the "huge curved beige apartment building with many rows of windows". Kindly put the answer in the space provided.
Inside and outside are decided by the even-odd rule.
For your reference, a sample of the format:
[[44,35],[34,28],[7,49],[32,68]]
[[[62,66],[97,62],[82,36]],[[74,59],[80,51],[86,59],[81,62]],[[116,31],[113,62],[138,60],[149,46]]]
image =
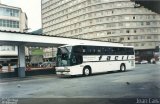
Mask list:
[[42,0],[43,33],[135,46],[150,60],[160,44],[160,15],[130,0]]

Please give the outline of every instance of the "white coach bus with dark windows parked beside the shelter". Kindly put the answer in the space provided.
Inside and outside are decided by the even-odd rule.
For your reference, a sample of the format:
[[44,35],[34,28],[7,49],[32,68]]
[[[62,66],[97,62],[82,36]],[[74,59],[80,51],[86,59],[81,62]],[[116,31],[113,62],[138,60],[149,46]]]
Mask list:
[[64,45],[57,50],[57,75],[126,71],[135,67],[134,48],[122,44]]

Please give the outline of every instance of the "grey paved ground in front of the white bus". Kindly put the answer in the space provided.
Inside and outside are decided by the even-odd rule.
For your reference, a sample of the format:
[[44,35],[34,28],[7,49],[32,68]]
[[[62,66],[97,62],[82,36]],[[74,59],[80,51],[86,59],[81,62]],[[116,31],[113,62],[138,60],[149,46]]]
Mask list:
[[[0,82],[0,98],[94,98],[96,102],[99,102],[98,98],[160,98],[159,82],[160,65],[143,64],[136,65],[132,71],[90,77],[59,78],[49,75],[5,79]],[[106,101],[102,103],[108,104]]]

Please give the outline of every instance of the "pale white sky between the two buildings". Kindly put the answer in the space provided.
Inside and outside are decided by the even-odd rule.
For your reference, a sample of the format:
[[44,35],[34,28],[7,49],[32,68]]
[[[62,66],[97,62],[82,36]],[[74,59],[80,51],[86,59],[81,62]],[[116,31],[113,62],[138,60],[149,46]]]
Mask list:
[[29,31],[41,28],[41,0],[0,0],[2,4],[19,7],[28,17]]

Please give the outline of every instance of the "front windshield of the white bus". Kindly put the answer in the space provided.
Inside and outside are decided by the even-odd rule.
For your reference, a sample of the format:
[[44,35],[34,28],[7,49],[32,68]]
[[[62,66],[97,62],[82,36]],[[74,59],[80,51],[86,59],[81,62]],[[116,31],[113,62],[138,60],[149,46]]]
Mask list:
[[69,66],[72,47],[60,47],[57,51],[57,66]]

